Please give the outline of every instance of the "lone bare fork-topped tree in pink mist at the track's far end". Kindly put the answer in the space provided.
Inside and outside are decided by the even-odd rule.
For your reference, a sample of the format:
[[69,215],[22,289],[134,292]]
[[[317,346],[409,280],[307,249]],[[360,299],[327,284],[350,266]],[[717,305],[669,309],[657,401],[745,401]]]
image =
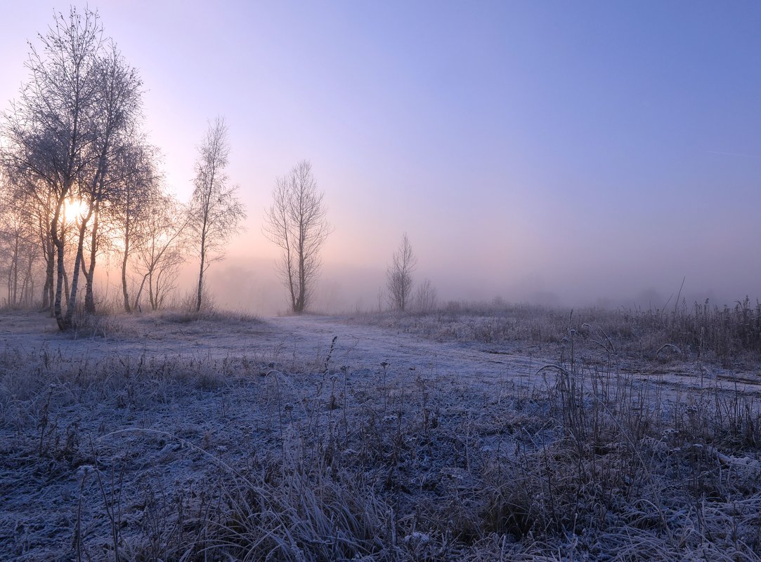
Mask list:
[[301,160],[288,175],[277,178],[272,207],[265,213],[263,231],[282,251],[279,270],[296,314],[310,305],[320,247],[330,234],[324,195],[317,191],[311,164]]

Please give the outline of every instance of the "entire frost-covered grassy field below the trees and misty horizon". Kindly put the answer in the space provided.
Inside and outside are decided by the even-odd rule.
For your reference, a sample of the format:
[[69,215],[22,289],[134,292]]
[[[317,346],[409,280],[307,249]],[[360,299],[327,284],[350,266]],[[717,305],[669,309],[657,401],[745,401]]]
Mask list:
[[759,560],[749,311],[3,314],[0,559]]

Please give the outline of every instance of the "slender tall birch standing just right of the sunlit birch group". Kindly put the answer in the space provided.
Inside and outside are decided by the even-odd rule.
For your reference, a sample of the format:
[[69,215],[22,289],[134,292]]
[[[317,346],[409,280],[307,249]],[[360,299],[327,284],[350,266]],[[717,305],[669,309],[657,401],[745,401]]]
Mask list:
[[223,118],[209,123],[196,159],[193,197],[188,209],[188,230],[199,251],[198,294],[196,311],[201,310],[203,274],[213,261],[224,257],[222,248],[231,236],[240,232],[246,210],[237,197],[237,188],[228,187],[230,141]]

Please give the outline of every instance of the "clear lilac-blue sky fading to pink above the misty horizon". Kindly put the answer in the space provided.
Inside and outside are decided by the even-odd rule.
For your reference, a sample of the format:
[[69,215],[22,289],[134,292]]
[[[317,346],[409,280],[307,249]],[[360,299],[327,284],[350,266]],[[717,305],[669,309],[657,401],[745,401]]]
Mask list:
[[[247,232],[222,305],[285,309],[262,234],[308,159],[333,233],[320,308],[377,307],[403,232],[440,298],[761,297],[759,2],[91,3],[144,82],[167,185],[231,134]],[[51,0],[4,1],[0,107]],[[688,303],[689,304],[689,303]]]

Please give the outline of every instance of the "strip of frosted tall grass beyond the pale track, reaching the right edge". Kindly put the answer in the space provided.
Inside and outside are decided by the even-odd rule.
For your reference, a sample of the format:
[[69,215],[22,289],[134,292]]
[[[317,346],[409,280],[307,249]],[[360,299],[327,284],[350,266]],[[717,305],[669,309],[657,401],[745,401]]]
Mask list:
[[664,345],[683,359],[721,362],[724,366],[761,361],[761,303],[750,299],[734,307],[709,302],[668,310],[548,308],[502,302],[450,302],[438,311],[355,315],[365,324],[393,327],[439,341],[463,343],[559,343],[568,328],[601,349],[658,358]]

